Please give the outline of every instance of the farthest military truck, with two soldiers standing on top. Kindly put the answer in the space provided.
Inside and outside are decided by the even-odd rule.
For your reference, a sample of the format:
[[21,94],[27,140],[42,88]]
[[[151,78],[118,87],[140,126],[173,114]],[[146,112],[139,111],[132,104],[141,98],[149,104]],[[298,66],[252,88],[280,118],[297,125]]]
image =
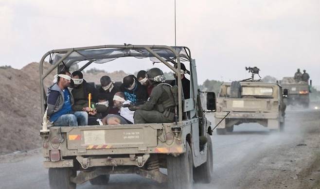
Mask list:
[[289,91],[289,96],[285,100],[286,105],[309,107],[312,80],[310,80],[309,85],[308,82],[304,81],[296,82],[293,77],[284,77],[280,81],[280,85]]

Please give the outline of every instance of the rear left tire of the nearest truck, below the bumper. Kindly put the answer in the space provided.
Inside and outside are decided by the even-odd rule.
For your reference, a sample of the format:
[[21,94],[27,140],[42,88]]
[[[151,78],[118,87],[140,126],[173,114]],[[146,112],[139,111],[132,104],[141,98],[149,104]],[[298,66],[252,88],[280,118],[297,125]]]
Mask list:
[[71,168],[49,168],[50,189],[76,189],[76,184],[70,181],[77,172]]

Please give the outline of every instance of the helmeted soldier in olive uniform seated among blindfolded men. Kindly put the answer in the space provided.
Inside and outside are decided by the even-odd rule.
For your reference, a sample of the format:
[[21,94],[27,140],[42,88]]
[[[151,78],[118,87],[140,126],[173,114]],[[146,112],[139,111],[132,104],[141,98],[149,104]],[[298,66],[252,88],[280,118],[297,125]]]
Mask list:
[[173,122],[175,118],[176,92],[172,86],[165,84],[165,77],[161,69],[152,68],[146,73],[149,84],[154,86],[150,99],[139,106],[130,105],[134,111],[134,123],[162,123]]

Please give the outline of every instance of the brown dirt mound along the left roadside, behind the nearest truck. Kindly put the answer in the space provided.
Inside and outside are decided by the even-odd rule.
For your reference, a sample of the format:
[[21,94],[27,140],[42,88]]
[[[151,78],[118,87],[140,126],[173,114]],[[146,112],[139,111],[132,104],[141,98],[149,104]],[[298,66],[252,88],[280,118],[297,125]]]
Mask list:
[[[44,73],[51,65],[44,63]],[[46,88],[52,85],[56,70],[45,79]],[[87,73],[84,78],[100,84],[108,75],[122,81],[124,71]],[[33,62],[22,69],[0,69],[0,154],[25,151],[41,146],[41,107],[39,90],[39,63]],[[47,90],[47,89],[46,89]]]

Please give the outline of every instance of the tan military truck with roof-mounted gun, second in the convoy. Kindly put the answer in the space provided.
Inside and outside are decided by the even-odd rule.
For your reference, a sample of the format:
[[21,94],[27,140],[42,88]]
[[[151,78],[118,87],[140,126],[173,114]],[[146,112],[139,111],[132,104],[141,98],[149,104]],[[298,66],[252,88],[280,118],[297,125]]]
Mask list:
[[285,104],[282,86],[247,79],[223,83],[214,114],[218,135],[233,131],[234,125],[259,123],[270,131],[284,130]]

